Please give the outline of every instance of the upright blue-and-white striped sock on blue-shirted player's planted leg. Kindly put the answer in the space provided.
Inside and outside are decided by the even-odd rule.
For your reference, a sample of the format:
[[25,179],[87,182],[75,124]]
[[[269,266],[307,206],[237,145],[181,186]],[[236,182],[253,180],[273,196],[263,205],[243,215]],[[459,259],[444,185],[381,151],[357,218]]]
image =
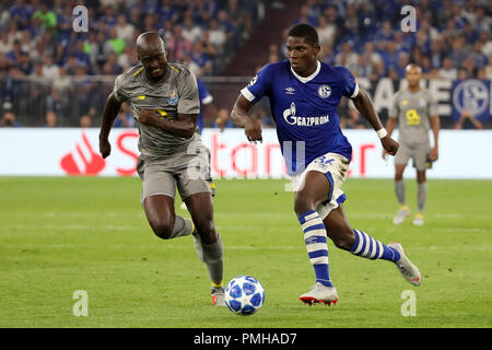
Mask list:
[[333,287],[328,268],[328,244],[325,224],[316,210],[309,210],[298,217],[304,231],[304,243],[311,264],[313,264],[316,282]]

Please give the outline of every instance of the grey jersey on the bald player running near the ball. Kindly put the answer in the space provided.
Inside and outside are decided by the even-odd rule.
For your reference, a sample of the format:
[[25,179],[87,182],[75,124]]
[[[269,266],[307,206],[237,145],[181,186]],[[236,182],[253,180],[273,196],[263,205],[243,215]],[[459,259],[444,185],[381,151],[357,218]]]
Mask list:
[[[132,67],[116,78],[113,95],[118,102],[129,102],[134,118],[142,108],[153,109],[161,118],[171,120],[176,120],[178,113],[200,112],[197,79],[178,63],[168,63],[165,77],[159,82],[148,80],[142,66]],[[141,122],[138,127],[139,151],[145,159],[186,153],[190,142],[200,140],[197,132],[186,139]]]

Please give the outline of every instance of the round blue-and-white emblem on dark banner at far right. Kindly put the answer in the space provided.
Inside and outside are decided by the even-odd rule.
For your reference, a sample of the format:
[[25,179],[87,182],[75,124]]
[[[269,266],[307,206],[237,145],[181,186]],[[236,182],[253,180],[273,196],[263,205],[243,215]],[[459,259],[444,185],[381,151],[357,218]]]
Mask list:
[[459,114],[468,110],[479,116],[489,107],[489,89],[480,80],[465,80],[455,88],[453,103]]

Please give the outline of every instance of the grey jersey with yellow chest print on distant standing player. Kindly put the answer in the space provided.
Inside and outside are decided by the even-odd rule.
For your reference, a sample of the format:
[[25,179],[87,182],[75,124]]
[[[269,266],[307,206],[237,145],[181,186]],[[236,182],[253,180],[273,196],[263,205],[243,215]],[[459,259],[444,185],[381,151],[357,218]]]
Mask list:
[[411,93],[402,89],[395,94],[390,118],[398,118],[398,141],[430,143],[431,116],[437,115],[437,103],[426,89]]

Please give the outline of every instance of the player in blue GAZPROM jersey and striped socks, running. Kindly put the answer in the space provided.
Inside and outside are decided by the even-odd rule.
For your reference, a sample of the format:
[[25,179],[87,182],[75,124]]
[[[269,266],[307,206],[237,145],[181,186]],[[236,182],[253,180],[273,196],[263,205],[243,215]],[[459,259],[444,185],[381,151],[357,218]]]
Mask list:
[[261,127],[248,112],[268,96],[282,154],[295,191],[294,210],[316,275],[316,285],[301,295],[307,304],[333,304],[337,290],[328,268],[327,237],[335,245],[368,259],[393,261],[402,277],[420,285],[419,269],[399,243],[388,245],[350,226],[342,210],[347,199],[341,185],[347,177],[352,147],[340,130],[337,106],[351,98],[377,132],[383,148],[395,155],[398,142],[387,135],[367,95],[344,67],[319,62],[316,30],[298,24],[289,32],[288,60],[262,68],[241,91],[231,113],[251,142],[261,141]]

